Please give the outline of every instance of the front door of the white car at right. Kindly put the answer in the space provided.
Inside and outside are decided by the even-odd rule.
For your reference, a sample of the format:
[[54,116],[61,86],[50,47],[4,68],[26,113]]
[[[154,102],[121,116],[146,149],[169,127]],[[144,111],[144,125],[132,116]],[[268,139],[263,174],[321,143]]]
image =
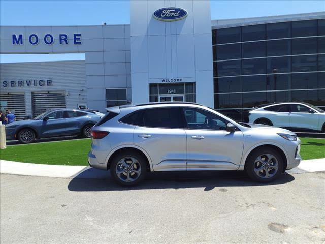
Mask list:
[[[312,110],[314,111],[314,110]],[[291,104],[290,127],[318,130],[319,114],[302,104]]]

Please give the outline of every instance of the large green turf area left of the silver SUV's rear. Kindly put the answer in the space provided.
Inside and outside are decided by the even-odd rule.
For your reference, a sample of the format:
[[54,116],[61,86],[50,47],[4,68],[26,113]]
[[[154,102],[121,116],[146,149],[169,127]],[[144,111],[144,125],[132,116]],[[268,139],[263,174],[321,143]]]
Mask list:
[[0,159],[56,165],[88,165],[91,139],[7,146]]

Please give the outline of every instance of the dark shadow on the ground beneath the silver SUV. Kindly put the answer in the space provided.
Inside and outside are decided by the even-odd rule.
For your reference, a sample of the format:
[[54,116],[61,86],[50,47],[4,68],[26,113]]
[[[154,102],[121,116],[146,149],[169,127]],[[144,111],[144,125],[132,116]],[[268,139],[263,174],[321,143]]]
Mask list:
[[210,191],[215,187],[280,185],[294,179],[294,176],[284,173],[277,180],[262,184],[249,179],[243,171],[150,172],[141,184],[136,187],[126,188],[117,185],[111,178],[109,171],[87,168],[69,182],[68,189],[75,192],[94,192],[204,188],[204,191]]

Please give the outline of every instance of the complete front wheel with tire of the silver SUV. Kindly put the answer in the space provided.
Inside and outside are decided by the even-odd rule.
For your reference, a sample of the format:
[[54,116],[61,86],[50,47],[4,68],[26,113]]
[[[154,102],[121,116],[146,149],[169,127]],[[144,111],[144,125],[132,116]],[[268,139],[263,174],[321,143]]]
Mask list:
[[245,171],[251,179],[267,183],[281,175],[283,165],[283,159],[277,150],[262,147],[252,151],[247,157]]

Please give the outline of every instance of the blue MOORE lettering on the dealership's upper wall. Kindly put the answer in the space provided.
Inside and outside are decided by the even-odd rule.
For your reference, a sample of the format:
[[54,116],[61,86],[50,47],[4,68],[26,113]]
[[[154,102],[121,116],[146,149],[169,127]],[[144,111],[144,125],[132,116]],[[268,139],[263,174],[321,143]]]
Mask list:
[[[28,42],[31,45],[37,45],[40,41],[40,38],[44,40],[44,43],[47,45],[52,45],[54,43],[54,36],[52,34],[45,34],[44,37],[39,37],[37,34],[30,34],[28,36]],[[57,37],[60,45],[68,45],[68,35],[59,34]],[[81,34],[73,34],[73,44],[81,44]],[[12,45],[24,45],[24,36],[23,34],[12,34]]]

